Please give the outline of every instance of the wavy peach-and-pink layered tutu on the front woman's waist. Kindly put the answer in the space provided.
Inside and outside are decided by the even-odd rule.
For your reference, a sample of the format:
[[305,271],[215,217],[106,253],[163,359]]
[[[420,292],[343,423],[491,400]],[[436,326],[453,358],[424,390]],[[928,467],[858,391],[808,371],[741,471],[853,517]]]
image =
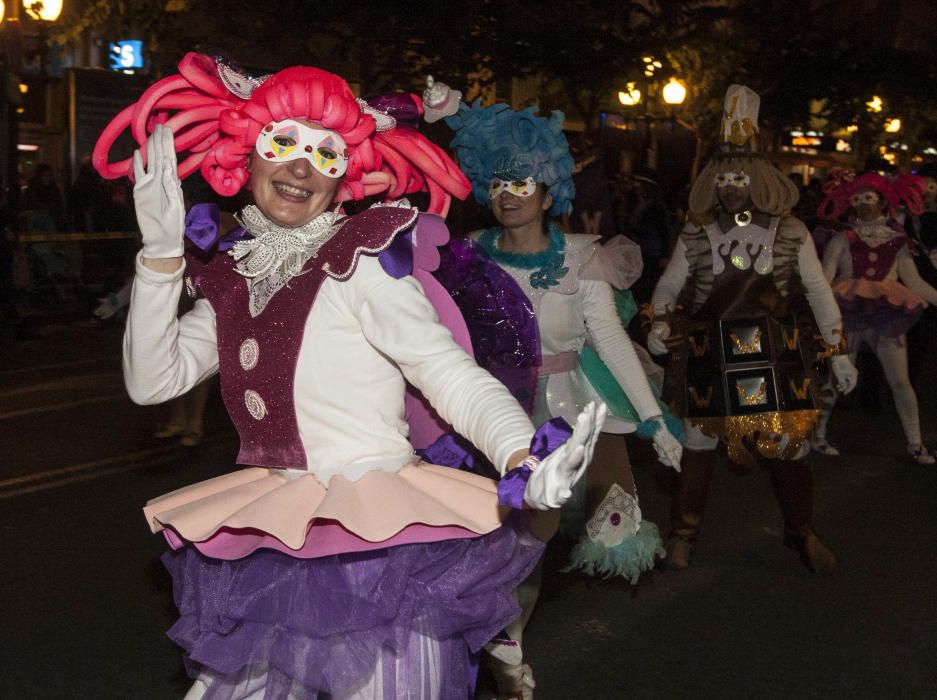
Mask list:
[[312,474],[252,467],[160,496],[143,512],[174,549],[189,542],[239,559],[257,549],[314,558],[477,537],[506,511],[491,479],[419,463],[358,481],[336,476],[328,488]]

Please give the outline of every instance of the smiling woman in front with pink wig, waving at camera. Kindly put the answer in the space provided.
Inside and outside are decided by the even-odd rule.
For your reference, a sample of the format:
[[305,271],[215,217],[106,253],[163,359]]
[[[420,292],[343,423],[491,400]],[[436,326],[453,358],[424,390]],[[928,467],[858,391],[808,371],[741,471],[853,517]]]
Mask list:
[[[336,211],[428,189],[444,214],[467,193],[393,110],[315,68],[254,79],[189,54],[179,70],[118,115],[94,158],[136,183],[131,397],[165,401],[220,372],[238,462],[253,465],[145,509],[173,549],[187,697],[465,698],[472,654],[517,616],[511,591],[542,551],[519,511],[570,496],[604,407],[585,406],[571,436],[556,424],[534,435],[383,255],[404,232],[438,238],[441,219],[404,204]],[[111,164],[127,127],[145,152]],[[179,178],[195,168],[219,193],[253,195],[220,242],[185,219]],[[184,229],[217,246],[210,262],[183,262]],[[199,298],[177,321],[183,287]],[[499,483],[415,457],[405,380],[506,474]]]

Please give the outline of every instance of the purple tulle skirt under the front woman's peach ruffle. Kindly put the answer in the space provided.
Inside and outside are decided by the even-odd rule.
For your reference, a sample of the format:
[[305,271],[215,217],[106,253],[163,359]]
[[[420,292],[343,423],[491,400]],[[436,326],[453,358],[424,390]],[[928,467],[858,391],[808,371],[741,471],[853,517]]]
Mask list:
[[438,697],[462,700],[472,655],[517,617],[511,591],[542,552],[517,512],[477,538],[318,559],[259,550],[224,561],[187,546],[163,557],[180,612],[169,636],[193,677],[212,678],[206,698],[235,697],[251,668],[264,669],[265,697],[297,686],[341,697],[381,666],[385,698],[434,683]]

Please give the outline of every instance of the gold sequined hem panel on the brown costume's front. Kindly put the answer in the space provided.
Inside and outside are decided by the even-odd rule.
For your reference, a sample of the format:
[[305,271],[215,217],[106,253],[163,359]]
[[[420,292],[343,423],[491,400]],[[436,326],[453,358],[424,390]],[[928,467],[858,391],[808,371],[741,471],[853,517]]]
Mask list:
[[[725,443],[729,459],[737,464],[754,464],[754,448],[767,459],[793,459],[805,440],[810,439],[820,412],[773,411],[726,418],[691,418],[690,421],[710,437]],[[787,435],[786,446],[781,436]]]

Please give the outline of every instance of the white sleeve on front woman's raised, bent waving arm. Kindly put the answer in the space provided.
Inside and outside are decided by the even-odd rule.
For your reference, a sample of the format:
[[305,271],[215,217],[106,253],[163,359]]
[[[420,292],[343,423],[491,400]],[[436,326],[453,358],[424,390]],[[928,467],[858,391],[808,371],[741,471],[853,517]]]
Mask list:
[[[142,253],[141,253],[142,255]],[[156,272],[137,256],[124,330],[124,383],[138,404],[168,401],[218,371],[215,312],[206,300],[177,318],[185,265]]]

